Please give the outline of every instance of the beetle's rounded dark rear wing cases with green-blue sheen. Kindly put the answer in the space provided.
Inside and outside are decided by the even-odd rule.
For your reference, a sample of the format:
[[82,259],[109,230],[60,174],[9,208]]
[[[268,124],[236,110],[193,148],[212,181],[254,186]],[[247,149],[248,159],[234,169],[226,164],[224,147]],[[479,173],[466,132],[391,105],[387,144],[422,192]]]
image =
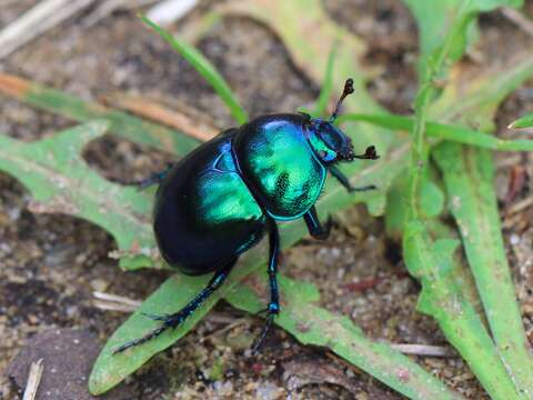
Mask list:
[[265,218],[239,176],[231,134],[202,144],[162,182],[154,231],[168,263],[190,274],[210,272],[257,243]]

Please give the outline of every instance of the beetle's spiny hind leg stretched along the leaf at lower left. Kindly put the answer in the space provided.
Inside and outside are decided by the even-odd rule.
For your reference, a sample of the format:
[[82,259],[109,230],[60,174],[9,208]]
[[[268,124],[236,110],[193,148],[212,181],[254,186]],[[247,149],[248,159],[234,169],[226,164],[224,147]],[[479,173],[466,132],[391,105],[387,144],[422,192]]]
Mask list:
[[184,308],[182,308],[180,311],[171,313],[171,314],[164,314],[164,316],[154,316],[154,314],[149,314],[149,313],[143,313],[144,317],[151,318],[157,321],[162,321],[161,326],[159,328],[155,328],[151,332],[144,334],[143,337],[139,339],[134,339],[132,341],[129,341],[118,349],[113,351],[113,354],[117,354],[119,352],[122,352],[129,348],[142,344],[151,339],[157,338],[161,333],[163,333],[167,329],[169,328],[177,328],[180,326],[190,314],[194,312],[217,289],[219,289],[222,283],[225,281],[228,278],[228,274],[230,273],[231,269],[235,264],[237,257],[233,258],[231,261],[224,263],[222,267],[218,268],[217,271],[214,272],[213,277],[209,281],[208,286],[197,294],[194,299],[192,299],[189,304],[187,304]]

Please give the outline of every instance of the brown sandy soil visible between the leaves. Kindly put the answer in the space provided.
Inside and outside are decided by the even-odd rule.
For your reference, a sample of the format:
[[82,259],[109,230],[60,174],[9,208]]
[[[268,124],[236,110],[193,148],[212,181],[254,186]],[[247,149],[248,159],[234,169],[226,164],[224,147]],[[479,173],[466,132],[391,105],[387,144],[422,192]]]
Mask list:
[[[2,7],[0,26],[32,6],[32,0]],[[408,112],[416,90],[418,38],[414,21],[398,1],[342,0],[324,9],[339,23],[366,40],[365,63],[380,71],[369,83],[388,109]],[[209,10],[209,4],[202,10]],[[533,16],[533,1],[527,1]],[[349,18],[348,16],[359,16]],[[0,70],[60,88],[83,99],[115,90],[142,94],[170,107],[194,108],[220,128],[230,114],[203,79],[180,56],[144,29],[134,13],[115,12],[92,28],[82,17],[42,36],[0,61]],[[482,49],[506,59],[506,43],[531,44],[524,32],[500,13],[481,19]],[[224,19],[207,32],[200,50],[215,64],[251,117],[309,104],[319,92],[291,62],[269,29],[252,20]],[[485,56],[489,57],[489,56]],[[532,84],[507,99],[497,116],[499,132],[533,109]],[[0,131],[34,140],[72,122],[0,96]],[[164,168],[169,156],[107,136],[91,143],[86,159],[108,179],[127,182]],[[511,171],[521,166],[533,177],[531,156],[497,154],[497,193],[504,200]],[[533,194],[531,181],[511,199]],[[100,228],[60,214],[32,214],[28,192],[0,173],[0,399],[17,398],[17,386],[3,371],[27,341],[50,329],[89,329],[103,346],[127,314],[102,311],[92,292],[147,298],[168,277],[163,271],[124,272],[108,258],[112,238]],[[509,206],[509,204],[507,204]],[[533,339],[532,209],[504,231],[524,324]],[[525,221],[525,222],[524,222]],[[383,221],[363,207],[335,217],[326,242],[311,239],[283,253],[282,271],[318,286],[321,306],[349,316],[371,338],[396,343],[446,346],[436,323],[415,311],[418,283],[401,261],[399,243],[386,239]],[[362,283],[361,283],[362,282]],[[235,323],[235,321],[238,323]],[[234,324],[229,332],[221,331]],[[276,329],[259,358],[247,349],[260,319],[220,303],[198,328],[154,357],[125,381],[135,399],[301,398],[401,399],[379,381],[324,350],[306,348]],[[415,357],[428,371],[471,399],[485,393],[459,357]]]

